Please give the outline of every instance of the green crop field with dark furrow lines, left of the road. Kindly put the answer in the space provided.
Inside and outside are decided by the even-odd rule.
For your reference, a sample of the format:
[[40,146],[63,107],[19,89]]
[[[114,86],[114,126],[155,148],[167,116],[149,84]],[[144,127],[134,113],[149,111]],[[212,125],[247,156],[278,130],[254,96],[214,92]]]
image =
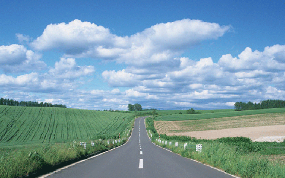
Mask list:
[[0,106],[0,146],[123,134],[132,114],[54,107]]

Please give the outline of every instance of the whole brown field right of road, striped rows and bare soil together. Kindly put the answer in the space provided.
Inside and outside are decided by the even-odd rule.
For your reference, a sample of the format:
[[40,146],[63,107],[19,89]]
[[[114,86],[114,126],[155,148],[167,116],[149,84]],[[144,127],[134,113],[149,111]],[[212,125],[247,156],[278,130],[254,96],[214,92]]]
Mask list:
[[202,139],[285,135],[285,113],[223,117],[203,120],[155,121],[159,134],[187,135]]

